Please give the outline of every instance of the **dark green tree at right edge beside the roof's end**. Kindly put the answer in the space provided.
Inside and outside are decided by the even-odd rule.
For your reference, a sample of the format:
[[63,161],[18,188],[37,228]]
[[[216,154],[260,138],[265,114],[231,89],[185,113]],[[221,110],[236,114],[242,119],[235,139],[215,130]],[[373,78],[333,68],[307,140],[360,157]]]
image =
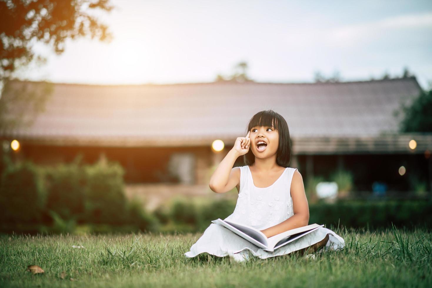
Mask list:
[[[410,105],[401,105],[400,132],[432,132],[432,89],[420,92]],[[398,116],[400,111],[395,112]]]

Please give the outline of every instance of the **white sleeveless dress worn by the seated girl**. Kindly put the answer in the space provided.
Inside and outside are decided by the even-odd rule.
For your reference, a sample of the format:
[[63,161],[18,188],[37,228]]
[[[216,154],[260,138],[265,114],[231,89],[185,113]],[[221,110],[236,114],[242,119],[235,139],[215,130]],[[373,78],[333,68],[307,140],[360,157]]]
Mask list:
[[[263,230],[277,225],[294,215],[291,199],[291,180],[296,168],[287,167],[282,175],[269,187],[255,187],[249,166],[240,167],[240,192],[234,212],[224,220],[233,220]],[[318,223],[321,224],[321,223]],[[324,250],[340,250],[345,246],[342,237],[330,229],[317,230],[269,252],[239,237],[229,229],[211,223],[203,235],[192,245],[186,257],[195,257],[207,252],[216,256],[230,256],[235,261],[248,260],[254,255],[261,259],[291,253],[309,247],[329,235]]]

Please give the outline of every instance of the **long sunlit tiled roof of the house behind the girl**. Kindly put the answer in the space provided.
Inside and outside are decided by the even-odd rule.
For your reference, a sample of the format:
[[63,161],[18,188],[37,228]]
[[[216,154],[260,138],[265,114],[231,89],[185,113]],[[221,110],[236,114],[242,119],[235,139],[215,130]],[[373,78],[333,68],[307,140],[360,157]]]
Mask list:
[[293,139],[370,138],[397,133],[394,111],[420,91],[415,77],[336,83],[55,83],[34,124],[2,136],[59,145],[207,145],[244,136],[255,113],[273,109],[286,119]]

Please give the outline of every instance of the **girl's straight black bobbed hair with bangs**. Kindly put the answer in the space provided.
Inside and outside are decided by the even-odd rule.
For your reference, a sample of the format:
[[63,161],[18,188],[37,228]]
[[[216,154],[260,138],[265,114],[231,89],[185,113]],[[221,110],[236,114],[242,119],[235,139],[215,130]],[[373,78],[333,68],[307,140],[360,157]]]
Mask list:
[[[245,131],[247,134],[252,127],[255,126],[270,126],[274,127],[279,134],[279,146],[276,152],[276,163],[282,167],[288,167],[291,161],[291,139],[289,138],[288,124],[285,119],[273,110],[264,110],[255,114],[249,120],[248,128]],[[253,145],[251,143],[251,145]],[[251,165],[255,162],[255,155],[252,149],[243,155],[243,162],[245,165]]]

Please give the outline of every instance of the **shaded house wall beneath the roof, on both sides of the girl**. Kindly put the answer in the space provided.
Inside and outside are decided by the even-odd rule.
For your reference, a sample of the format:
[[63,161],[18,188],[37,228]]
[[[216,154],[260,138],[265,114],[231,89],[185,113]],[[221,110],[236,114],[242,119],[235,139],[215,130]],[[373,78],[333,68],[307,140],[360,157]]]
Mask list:
[[[41,146],[22,143],[17,158],[25,158],[42,165],[70,162],[81,154],[84,163],[94,163],[104,154],[109,161],[118,161],[125,169],[125,182],[133,183],[178,183],[187,185],[208,185],[210,176],[232,147],[213,152],[210,147],[159,147],[159,148],[117,148],[117,147],[67,147]],[[181,161],[190,155],[191,161]],[[173,160],[173,159],[178,160]],[[177,165],[175,162],[191,163]],[[239,157],[234,166],[242,166]],[[406,174],[400,175],[400,166]],[[375,181],[384,182],[389,191],[413,191],[416,183],[426,183],[426,190],[432,190],[431,159],[423,154],[385,155],[293,155],[290,167],[299,169],[306,185],[309,177],[320,175],[325,180],[338,168],[353,174],[357,191],[371,191]],[[178,173],[176,173],[176,169]],[[185,171],[186,170],[186,171]],[[187,172],[190,171],[190,172]],[[190,177],[187,175],[191,174]],[[188,182],[189,181],[189,182]]]

